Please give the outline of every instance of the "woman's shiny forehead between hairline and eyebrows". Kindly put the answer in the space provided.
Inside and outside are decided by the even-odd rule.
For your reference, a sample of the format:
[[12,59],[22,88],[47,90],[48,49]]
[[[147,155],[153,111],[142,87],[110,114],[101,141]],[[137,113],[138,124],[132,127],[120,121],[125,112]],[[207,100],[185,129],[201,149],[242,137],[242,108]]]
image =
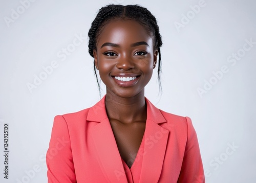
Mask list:
[[101,30],[97,38],[97,45],[104,42],[120,43],[123,42],[146,41],[152,44],[152,36],[148,31],[135,20],[112,20]]

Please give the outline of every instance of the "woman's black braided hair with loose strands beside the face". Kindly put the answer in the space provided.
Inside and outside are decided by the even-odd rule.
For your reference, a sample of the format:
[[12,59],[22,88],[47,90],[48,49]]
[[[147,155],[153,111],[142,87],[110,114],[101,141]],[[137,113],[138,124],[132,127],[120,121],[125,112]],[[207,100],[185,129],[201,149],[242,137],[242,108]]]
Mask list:
[[[162,38],[159,33],[159,27],[157,25],[157,20],[154,15],[146,8],[139,5],[107,5],[102,7],[96,18],[93,20],[91,28],[88,32],[89,36],[89,54],[93,56],[93,50],[96,50],[97,38],[102,32],[104,26],[108,24],[111,20],[120,20],[120,19],[132,19],[139,22],[146,31],[153,37],[153,47],[154,50],[158,51],[159,60],[158,60],[158,82],[159,89],[162,90],[161,81],[160,81],[160,72],[161,72],[161,52],[160,47],[162,46]],[[96,66],[94,62],[94,73],[96,75],[96,80],[98,83],[99,91],[100,85],[98,76],[96,74]]]

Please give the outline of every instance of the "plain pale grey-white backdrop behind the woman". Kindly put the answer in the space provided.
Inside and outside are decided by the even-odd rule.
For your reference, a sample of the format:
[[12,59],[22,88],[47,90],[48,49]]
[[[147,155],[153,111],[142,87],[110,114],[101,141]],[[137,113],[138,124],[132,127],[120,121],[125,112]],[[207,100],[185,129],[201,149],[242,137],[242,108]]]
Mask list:
[[[109,3],[139,4],[156,16],[163,39],[163,94],[158,96],[155,71],[146,97],[162,110],[192,119],[206,182],[256,182],[255,1],[21,2],[26,0],[0,3],[0,182],[47,182],[45,154],[54,116],[100,99],[87,33],[98,9]],[[16,17],[12,9],[19,12]],[[86,38],[66,59],[58,57],[72,48],[76,34]],[[254,44],[243,51],[246,40]],[[234,60],[232,54],[240,56]],[[57,67],[44,75],[43,67],[54,60]],[[212,72],[223,66],[226,73],[218,79]],[[40,75],[45,80],[37,86],[34,78]],[[201,97],[198,88],[205,90]],[[1,155],[4,123],[9,123],[8,180]]]

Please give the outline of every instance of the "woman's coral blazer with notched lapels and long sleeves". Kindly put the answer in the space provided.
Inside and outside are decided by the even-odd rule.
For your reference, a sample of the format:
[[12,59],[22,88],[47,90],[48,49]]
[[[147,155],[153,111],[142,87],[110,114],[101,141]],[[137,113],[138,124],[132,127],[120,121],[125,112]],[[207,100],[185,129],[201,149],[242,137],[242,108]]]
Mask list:
[[[139,182],[205,182],[191,120],[145,101]],[[46,162],[48,182],[130,182],[120,176],[125,175],[124,166],[106,115],[105,96],[91,108],[54,118]]]

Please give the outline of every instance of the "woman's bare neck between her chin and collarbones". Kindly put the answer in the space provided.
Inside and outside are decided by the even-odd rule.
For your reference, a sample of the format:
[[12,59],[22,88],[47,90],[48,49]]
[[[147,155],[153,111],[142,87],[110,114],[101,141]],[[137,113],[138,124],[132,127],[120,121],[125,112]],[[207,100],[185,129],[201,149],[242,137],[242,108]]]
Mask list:
[[144,122],[146,120],[144,90],[136,96],[123,98],[107,89],[105,106],[110,120],[117,120],[121,123]]

